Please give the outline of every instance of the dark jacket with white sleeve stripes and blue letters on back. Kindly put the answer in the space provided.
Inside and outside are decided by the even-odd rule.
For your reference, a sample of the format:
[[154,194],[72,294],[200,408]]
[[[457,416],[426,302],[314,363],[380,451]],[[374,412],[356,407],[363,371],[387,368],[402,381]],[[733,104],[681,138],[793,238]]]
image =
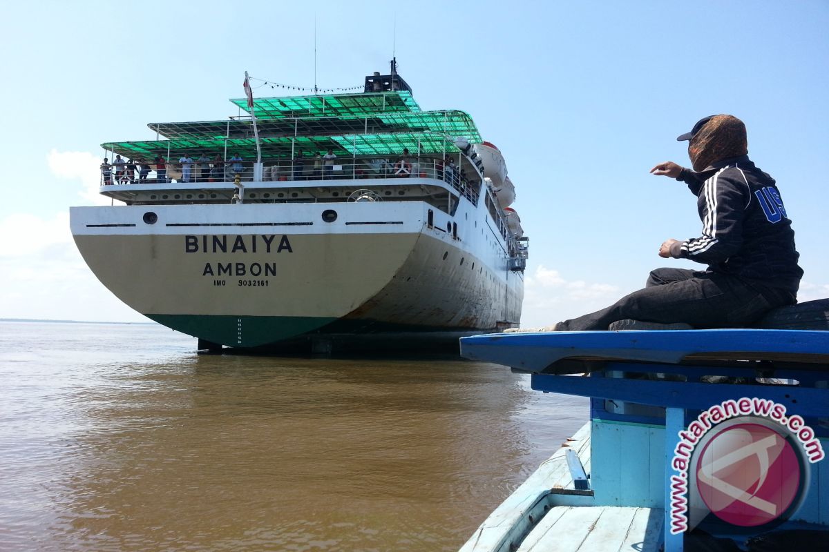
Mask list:
[[797,295],[803,271],[794,231],[774,179],[749,156],[731,157],[705,170],[682,169],[697,197],[702,235],[671,247],[671,257],[708,265],[710,271]]

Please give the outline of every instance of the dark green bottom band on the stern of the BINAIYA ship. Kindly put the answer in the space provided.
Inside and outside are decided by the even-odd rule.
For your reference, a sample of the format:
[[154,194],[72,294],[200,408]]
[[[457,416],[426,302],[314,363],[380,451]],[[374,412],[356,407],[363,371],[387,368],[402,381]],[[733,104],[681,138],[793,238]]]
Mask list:
[[210,316],[145,314],[182,334],[228,347],[259,347],[331,324],[335,318],[316,316]]

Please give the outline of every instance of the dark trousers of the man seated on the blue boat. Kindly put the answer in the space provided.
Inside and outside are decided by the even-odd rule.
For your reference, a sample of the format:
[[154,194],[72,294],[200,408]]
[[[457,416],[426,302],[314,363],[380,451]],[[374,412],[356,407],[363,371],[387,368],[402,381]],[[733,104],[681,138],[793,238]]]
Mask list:
[[793,305],[786,291],[748,282],[736,276],[683,268],[657,268],[645,289],[624,296],[607,309],[565,320],[561,330],[608,329],[617,320],[634,319],[695,328],[742,328],[766,311]]

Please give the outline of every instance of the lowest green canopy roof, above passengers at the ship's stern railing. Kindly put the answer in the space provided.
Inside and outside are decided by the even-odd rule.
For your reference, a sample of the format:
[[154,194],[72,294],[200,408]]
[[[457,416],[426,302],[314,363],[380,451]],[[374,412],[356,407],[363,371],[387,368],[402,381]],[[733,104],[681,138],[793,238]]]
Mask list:
[[[295,141],[295,145],[292,146]],[[351,134],[339,136],[310,136],[310,137],[266,137],[259,138],[264,159],[288,159],[291,152],[303,150],[307,157],[317,152],[325,152],[331,148],[337,156],[399,156],[404,148],[408,148],[412,155],[417,155],[418,145],[424,155],[439,155],[444,151],[458,151],[458,148],[449,142],[443,135],[429,132],[395,132],[391,134]],[[208,156],[224,155],[225,139],[181,139],[155,140],[148,142],[107,142],[101,145],[108,151],[114,151],[120,156],[150,161],[156,154],[167,157],[168,161],[177,161],[182,154],[187,153],[193,158],[202,152]],[[256,159],[256,142],[251,138],[231,138],[227,140],[227,154],[232,156],[239,153],[246,160]]]

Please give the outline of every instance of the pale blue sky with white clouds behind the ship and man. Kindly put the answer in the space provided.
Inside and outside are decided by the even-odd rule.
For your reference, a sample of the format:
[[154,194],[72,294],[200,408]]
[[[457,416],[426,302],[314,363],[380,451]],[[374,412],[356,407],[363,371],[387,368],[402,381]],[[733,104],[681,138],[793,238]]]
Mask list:
[[801,300],[829,296],[829,2],[13,2],[0,317],[145,320],[71,242],[69,206],[99,201],[99,144],[235,114],[245,70],[313,84],[315,19],[321,87],[385,72],[394,47],[422,108],[467,111],[502,150],[531,237],[525,325],[695,266],[657,257],[701,223],[686,188],[648,170],[687,166],[675,138],[713,113],[743,119],[749,155],[778,180]]

